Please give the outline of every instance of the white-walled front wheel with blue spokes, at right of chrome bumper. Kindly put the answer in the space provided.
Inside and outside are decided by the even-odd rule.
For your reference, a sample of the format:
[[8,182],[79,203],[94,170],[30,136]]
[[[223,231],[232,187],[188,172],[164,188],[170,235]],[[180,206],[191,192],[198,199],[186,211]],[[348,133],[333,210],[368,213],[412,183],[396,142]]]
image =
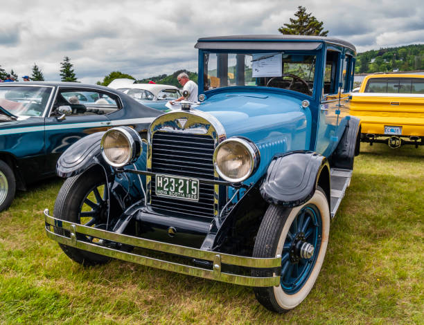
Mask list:
[[[330,209],[320,187],[300,207],[268,207],[256,236],[253,256],[281,255],[281,280],[279,286],[254,288],[260,304],[284,313],[306,298],[321,270],[329,232]],[[272,276],[271,271],[253,273],[256,277]]]

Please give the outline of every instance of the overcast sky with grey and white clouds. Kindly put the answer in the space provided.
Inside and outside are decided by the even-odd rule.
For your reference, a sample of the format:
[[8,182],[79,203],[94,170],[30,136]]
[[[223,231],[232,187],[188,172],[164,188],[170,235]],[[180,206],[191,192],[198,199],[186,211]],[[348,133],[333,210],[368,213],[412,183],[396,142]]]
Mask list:
[[278,34],[299,5],[358,52],[424,43],[423,0],[3,0],[0,66],[21,77],[37,63],[46,80],[60,80],[67,55],[88,83],[111,71],[197,71],[197,38]]

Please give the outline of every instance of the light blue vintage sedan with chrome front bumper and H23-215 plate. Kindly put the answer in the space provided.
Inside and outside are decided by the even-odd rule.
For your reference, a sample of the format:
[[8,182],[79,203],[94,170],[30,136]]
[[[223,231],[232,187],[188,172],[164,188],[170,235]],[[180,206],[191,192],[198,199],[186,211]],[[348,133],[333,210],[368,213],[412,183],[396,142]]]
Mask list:
[[355,46],[249,35],[195,48],[200,104],[156,118],[147,141],[116,127],[70,147],[46,233],[85,266],[115,258],[252,286],[282,313],[315,284],[351,180]]

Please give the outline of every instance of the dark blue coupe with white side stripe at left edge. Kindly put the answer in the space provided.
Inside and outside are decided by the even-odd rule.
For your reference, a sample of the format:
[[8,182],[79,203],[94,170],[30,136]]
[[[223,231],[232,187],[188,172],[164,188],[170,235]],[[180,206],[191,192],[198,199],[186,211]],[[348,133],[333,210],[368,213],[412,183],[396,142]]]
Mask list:
[[0,85],[0,211],[15,189],[55,176],[73,142],[117,125],[147,131],[161,113],[103,86],[61,82]]

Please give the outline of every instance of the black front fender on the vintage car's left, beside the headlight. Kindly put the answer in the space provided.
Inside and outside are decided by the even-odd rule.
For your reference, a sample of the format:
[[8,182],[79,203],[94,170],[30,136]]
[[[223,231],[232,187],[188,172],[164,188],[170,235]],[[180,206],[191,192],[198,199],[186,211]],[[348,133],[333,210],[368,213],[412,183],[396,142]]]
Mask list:
[[94,165],[103,165],[107,173],[112,174],[112,169],[107,165],[100,151],[100,140],[104,133],[90,134],[71,145],[56,163],[56,174],[64,178],[76,176]]

